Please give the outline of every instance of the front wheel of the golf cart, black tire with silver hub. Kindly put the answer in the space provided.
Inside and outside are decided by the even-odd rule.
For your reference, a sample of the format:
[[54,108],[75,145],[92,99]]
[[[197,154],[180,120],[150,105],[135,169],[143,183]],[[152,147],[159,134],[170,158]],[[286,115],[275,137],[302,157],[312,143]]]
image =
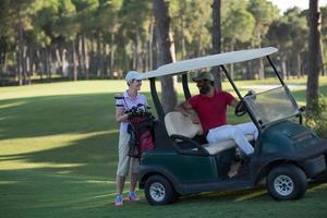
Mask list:
[[283,165],[270,170],[267,178],[267,190],[276,201],[299,199],[307,187],[306,175],[294,165]]

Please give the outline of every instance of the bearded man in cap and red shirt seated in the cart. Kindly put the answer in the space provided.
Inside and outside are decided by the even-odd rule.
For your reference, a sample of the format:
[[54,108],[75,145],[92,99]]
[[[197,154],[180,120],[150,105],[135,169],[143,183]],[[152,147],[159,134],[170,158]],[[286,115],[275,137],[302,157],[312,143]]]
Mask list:
[[254,148],[245,135],[253,135],[256,140],[258,135],[256,126],[252,122],[227,124],[227,106],[237,107],[239,101],[227,92],[216,90],[210,73],[199,73],[193,81],[196,82],[199,94],[178,105],[175,110],[191,117],[194,123],[201,123],[209,144],[232,138],[245,155],[253,154]]

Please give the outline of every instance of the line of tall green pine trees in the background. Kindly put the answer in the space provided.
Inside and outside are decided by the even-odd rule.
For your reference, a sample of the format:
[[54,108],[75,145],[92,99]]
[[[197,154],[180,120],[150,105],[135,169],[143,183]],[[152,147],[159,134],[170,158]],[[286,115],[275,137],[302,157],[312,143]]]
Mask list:
[[[33,80],[122,77],[130,69],[156,69],[160,41],[153,0],[2,0],[0,1],[0,85]],[[215,40],[213,0],[161,1],[168,7],[171,61],[213,52],[275,46],[284,77],[308,72],[308,10],[280,13],[267,0],[221,0],[219,38]],[[164,5],[164,4],[162,4]],[[158,5],[157,13],[162,12]],[[215,20],[214,20],[215,21]],[[317,65],[326,75],[327,7],[320,8]],[[215,50],[216,48],[216,50]],[[265,78],[231,66],[235,78]],[[246,70],[246,69],[245,69]]]

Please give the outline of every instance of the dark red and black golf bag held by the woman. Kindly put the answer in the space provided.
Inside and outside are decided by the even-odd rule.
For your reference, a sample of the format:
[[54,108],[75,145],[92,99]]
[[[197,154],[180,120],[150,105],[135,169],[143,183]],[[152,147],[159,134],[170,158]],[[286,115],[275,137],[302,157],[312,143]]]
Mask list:
[[154,119],[148,112],[130,116],[128,133],[131,135],[129,156],[140,158],[142,153],[155,148]]

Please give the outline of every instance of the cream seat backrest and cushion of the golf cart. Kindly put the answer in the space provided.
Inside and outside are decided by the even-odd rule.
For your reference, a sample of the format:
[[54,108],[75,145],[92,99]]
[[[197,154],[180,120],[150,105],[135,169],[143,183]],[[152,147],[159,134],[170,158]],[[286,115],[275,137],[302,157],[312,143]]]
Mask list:
[[[178,111],[166,114],[165,125],[169,136],[182,135],[193,138],[196,135],[203,134],[201,124],[193,123],[189,117]],[[247,141],[254,140],[253,135],[246,135],[245,137]],[[217,155],[223,150],[237,147],[237,144],[233,140],[226,140],[215,144],[203,144],[202,146],[208,152],[209,155]]]

